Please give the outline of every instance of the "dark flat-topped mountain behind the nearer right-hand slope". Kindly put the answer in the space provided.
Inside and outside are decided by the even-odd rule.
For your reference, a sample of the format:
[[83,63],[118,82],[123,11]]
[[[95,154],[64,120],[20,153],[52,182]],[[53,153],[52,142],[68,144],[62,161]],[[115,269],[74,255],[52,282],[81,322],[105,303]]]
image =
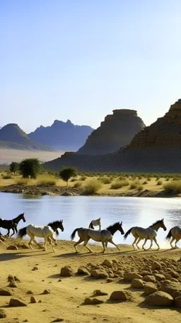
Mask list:
[[105,121],[88,136],[85,145],[76,154],[100,155],[115,152],[128,145],[144,127],[144,122],[135,110],[113,110],[113,114],[105,117]]

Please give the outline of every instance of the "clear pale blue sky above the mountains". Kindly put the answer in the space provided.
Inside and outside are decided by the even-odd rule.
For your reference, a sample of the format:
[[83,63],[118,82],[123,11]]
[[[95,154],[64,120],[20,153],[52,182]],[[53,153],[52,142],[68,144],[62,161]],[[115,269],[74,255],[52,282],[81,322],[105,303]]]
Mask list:
[[180,0],[1,0],[0,126],[146,125],[181,97]]

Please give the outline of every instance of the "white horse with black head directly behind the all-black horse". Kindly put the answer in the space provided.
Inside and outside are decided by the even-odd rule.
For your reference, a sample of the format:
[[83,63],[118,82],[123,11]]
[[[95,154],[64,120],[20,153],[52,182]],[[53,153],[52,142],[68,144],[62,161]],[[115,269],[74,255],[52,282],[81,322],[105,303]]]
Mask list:
[[54,232],[57,229],[61,229],[64,231],[64,226],[63,226],[63,220],[60,221],[54,221],[52,223],[49,223],[47,226],[35,226],[35,224],[29,224],[28,226],[25,226],[25,228],[22,228],[18,231],[18,237],[23,238],[26,234],[30,236],[30,241],[28,245],[30,248],[33,249],[33,246],[31,245],[32,241],[37,244],[37,241],[35,240],[35,236],[39,238],[44,238],[45,239],[45,251],[47,251],[47,242],[49,242],[52,246],[52,251],[54,251],[54,243],[53,241],[56,241],[53,237]]

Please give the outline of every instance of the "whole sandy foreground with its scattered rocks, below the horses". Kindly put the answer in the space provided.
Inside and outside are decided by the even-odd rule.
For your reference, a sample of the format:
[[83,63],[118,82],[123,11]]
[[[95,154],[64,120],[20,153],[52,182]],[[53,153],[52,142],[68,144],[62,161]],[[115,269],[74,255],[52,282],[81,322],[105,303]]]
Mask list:
[[[76,254],[73,244],[58,241],[52,253],[41,245],[32,251],[25,240],[1,241],[2,323],[180,322],[180,250],[119,245],[121,251],[108,248],[101,254],[93,244],[93,254],[83,246]],[[150,293],[157,290],[153,300]],[[12,298],[21,306],[10,306]]]

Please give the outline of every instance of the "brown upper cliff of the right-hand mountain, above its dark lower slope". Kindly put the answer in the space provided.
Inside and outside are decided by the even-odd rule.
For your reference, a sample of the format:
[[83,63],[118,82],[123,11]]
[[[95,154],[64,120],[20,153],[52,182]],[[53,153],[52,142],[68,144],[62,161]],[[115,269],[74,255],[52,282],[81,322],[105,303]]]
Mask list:
[[138,133],[129,148],[181,148],[181,99],[165,116]]

